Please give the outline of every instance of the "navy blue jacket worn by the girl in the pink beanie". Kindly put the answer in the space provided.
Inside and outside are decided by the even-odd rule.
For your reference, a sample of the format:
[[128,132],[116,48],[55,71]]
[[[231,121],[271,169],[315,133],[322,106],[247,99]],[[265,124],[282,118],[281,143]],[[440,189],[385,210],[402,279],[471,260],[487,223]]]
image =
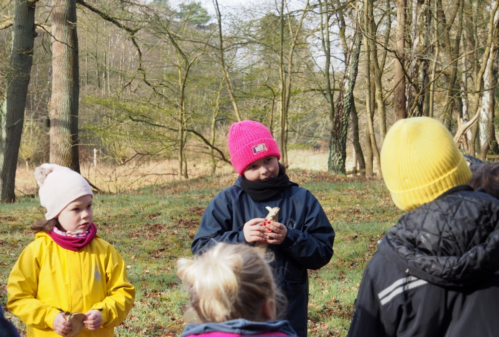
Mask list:
[[241,177],[233,186],[217,194],[210,202],[191,250],[202,253],[217,242],[247,243],[243,227],[254,218],[264,218],[269,207],[279,207],[278,222],[287,227],[287,236],[279,245],[269,244],[275,255],[275,282],[288,300],[287,317],[298,336],[307,335],[307,269],[325,266],[333,255],[334,230],[319,201],[305,188],[289,186],[275,197],[254,201],[240,187]]

